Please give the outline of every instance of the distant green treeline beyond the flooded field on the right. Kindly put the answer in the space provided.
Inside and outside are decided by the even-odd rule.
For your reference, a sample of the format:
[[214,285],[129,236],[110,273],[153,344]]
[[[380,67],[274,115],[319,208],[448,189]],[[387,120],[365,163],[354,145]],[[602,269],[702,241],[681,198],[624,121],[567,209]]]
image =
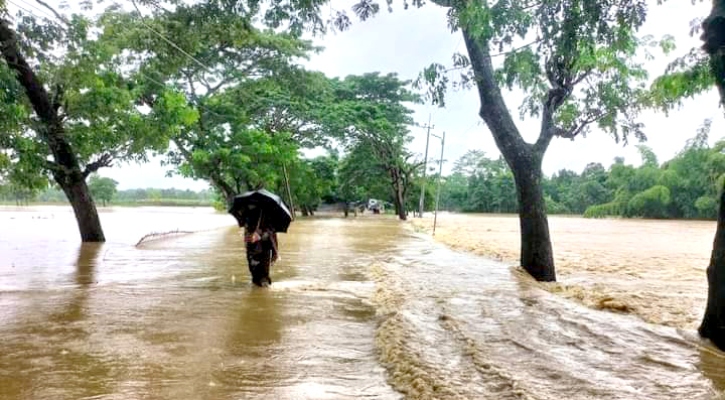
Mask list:
[[[687,141],[671,160],[660,164],[646,146],[638,146],[642,165],[623,158],[605,168],[591,163],[582,173],[561,170],[545,177],[549,214],[644,218],[715,219],[717,195],[725,179],[725,140],[708,144],[707,127]],[[470,151],[445,177],[442,207],[463,212],[515,213],[513,175],[502,158]]]

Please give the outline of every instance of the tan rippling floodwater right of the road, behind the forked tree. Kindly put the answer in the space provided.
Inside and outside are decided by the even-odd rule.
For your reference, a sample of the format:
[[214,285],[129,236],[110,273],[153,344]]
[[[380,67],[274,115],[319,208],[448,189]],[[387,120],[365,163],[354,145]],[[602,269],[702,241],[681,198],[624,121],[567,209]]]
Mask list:
[[[412,219],[430,232],[432,218]],[[549,217],[559,283],[541,287],[587,306],[694,329],[705,308],[715,223]],[[435,238],[518,265],[515,215],[438,215]]]

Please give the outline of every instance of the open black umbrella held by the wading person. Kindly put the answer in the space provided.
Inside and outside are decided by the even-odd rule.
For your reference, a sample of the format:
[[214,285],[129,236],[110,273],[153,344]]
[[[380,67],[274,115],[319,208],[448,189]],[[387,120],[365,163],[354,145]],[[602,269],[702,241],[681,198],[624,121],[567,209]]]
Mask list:
[[237,219],[239,226],[257,224],[261,215],[260,226],[271,227],[275,232],[287,232],[292,223],[292,214],[276,194],[264,190],[253,190],[234,197],[229,213]]

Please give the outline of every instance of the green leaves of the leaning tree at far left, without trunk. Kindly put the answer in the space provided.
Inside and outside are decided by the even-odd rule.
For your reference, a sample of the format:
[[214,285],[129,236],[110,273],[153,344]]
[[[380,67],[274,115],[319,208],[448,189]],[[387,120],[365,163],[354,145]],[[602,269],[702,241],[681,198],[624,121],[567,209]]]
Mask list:
[[[150,110],[138,107],[144,93],[119,62],[121,50],[95,32],[103,27],[104,17],[66,19],[59,26],[23,15],[15,30],[21,50],[57,103],[64,137],[81,169],[95,165],[90,173],[113,161],[144,161],[148,151],[163,151],[174,131],[194,122],[195,115],[183,110],[173,88],[162,90],[162,100]],[[58,161],[38,134],[48,128],[31,117],[34,111],[25,91],[4,63],[0,85],[0,151],[10,160],[3,169],[18,185],[47,185],[53,168],[49,160]]]

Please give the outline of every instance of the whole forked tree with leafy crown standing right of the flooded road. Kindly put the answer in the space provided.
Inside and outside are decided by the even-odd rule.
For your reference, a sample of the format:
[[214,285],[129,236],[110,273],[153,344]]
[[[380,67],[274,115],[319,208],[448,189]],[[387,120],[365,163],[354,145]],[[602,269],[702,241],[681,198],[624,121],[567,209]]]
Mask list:
[[[592,124],[617,140],[644,139],[634,117],[644,69],[633,63],[644,1],[544,0],[538,2],[434,0],[448,8],[449,25],[460,31],[468,56],[454,55],[453,70],[465,70],[463,86],[475,86],[486,122],[511,167],[519,203],[521,265],[536,279],[556,279],[542,192],[541,163],[554,136],[584,135]],[[423,2],[413,2],[421,6]],[[407,4],[406,4],[407,5]],[[379,10],[364,0],[353,7],[361,19]],[[536,35],[536,37],[534,37]],[[516,40],[529,42],[519,46]],[[504,55],[501,68],[494,49]],[[444,104],[451,71],[433,64],[421,74],[430,98]],[[523,140],[503,100],[502,88],[529,93],[522,114],[539,117],[538,139]]]

